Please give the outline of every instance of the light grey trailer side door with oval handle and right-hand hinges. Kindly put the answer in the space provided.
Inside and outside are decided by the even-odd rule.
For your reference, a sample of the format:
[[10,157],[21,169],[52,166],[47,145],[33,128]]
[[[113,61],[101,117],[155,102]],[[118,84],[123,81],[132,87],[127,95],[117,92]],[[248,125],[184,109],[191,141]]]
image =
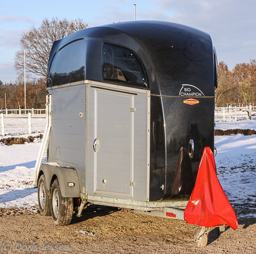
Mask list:
[[132,197],[134,181],[134,94],[94,88],[94,192]]

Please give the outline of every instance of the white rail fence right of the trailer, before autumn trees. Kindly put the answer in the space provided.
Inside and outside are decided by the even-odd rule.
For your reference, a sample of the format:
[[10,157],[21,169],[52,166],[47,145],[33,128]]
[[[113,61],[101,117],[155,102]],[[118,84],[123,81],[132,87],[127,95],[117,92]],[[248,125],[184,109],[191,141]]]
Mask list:
[[256,116],[256,106],[249,105],[246,107],[216,107],[215,108],[215,121],[227,121],[227,120],[243,120],[252,119]]

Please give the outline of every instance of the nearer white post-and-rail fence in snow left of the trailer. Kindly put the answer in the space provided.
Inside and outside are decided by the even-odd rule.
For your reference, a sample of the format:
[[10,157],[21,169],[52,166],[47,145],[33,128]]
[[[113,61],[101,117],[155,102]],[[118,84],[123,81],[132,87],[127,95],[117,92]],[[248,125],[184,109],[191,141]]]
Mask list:
[[[22,133],[32,133],[32,127],[38,128],[40,127],[40,130],[44,130],[45,127],[45,114],[40,114],[40,117],[37,115],[31,115],[31,112],[28,112],[26,115],[19,116],[19,114],[6,114],[1,113],[1,135],[4,136],[7,133],[13,133],[16,132],[14,130],[17,130],[17,132]],[[32,124],[31,119],[35,119],[36,121],[33,121],[35,123]],[[23,123],[23,124],[22,124]],[[38,124],[39,123],[39,124]],[[19,125],[20,124],[20,125]],[[22,124],[22,125],[21,125]],[[14,128],[14,129],[13,129]],[[8,131],[6,131],[6,129]],[[24,131],[25,130],[25,131]]]

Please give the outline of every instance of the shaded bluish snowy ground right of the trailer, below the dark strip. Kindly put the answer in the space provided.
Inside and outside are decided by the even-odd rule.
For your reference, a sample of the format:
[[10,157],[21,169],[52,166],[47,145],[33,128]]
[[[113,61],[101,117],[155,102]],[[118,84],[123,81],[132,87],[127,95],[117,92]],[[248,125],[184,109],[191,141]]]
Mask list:
[[239,218],[256,218],[256,135],[216,136],[218,179]]

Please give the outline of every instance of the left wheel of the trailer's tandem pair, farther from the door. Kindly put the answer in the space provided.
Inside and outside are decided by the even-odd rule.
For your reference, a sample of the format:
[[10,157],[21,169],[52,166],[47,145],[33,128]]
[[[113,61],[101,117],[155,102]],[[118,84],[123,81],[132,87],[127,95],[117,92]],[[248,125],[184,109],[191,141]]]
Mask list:
[[51,195],[46,188],[45,176],[40,176],[37,185],[37,197],[40,214],[44,216],[51,215]]

